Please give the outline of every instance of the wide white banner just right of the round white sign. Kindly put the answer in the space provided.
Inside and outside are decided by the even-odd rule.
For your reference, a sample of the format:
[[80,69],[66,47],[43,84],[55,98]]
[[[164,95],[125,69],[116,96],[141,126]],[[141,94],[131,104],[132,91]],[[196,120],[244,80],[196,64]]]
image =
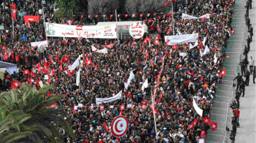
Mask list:
[[186,44],[189,42],[196,42],[197,38],[198,34],[165,36],[165,42],[167,42],[168,45]]

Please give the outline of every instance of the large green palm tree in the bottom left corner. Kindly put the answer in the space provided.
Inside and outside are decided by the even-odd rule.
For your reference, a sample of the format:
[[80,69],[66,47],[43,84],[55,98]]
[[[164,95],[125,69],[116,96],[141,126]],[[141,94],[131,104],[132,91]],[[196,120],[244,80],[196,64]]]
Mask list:
[[68,137],[74,138],[69,119],[63,107],[49,107],[62,96],[45,99],[52,85],[44,85],[39,92],[23,84],[19,89],[0,94],[0,142],[64,142],[58,131],[63,127]]

